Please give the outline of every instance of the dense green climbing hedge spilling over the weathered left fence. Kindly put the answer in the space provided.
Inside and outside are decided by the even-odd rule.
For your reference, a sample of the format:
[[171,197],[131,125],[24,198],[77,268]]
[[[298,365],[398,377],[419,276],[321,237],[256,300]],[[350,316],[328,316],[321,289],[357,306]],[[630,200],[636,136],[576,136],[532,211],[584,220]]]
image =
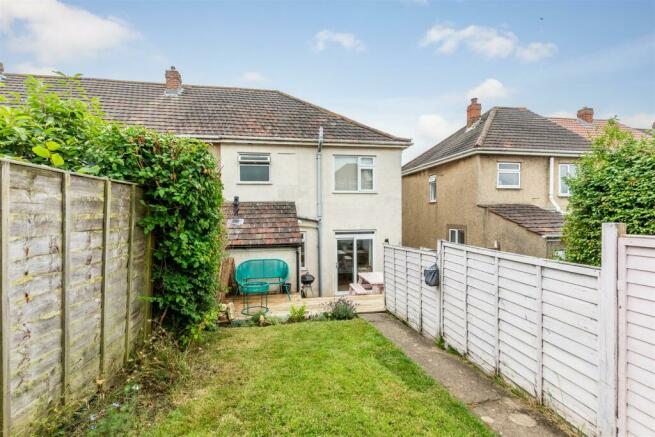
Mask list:
[[0,99],[0,155],[142,185],[153,232],[153,303],[188,339],[213,310],[221,256],[222,185],[205,143],[103,119],[75,77],[57,93],[35,78]]

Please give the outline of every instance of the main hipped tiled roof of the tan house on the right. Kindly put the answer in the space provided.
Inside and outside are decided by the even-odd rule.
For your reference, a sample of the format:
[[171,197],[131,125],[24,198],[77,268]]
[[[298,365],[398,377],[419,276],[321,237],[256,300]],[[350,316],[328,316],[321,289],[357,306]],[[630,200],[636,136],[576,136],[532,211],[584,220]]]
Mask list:
[[578,152],[590,142],[526,108],[494,107],[403,166],[403,173],[439,164],[466,152]]

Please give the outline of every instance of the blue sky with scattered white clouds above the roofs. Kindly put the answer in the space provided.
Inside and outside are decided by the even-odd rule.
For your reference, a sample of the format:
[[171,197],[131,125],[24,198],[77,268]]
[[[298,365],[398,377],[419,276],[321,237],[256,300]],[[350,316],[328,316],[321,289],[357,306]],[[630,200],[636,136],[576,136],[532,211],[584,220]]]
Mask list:
[[406,162],[486,111],[655,122],[655,0],[0,0],[0,62],[272,88],[397,136]]

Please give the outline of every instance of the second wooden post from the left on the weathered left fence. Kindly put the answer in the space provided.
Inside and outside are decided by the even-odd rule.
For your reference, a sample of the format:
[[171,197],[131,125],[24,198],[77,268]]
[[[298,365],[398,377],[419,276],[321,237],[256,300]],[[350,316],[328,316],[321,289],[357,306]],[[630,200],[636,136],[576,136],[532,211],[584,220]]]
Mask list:
[[70,283],[71,283],[71,251],[70,251],[70,226],[71,226],[71,196],[70,196],[71,175],[63,173],[61,179],[61,204],[62,204],[62,263],[61,263],[61,322],[62,322],[62,348],[61,348],[61,382],[62,399],[68,401],[70,385]]

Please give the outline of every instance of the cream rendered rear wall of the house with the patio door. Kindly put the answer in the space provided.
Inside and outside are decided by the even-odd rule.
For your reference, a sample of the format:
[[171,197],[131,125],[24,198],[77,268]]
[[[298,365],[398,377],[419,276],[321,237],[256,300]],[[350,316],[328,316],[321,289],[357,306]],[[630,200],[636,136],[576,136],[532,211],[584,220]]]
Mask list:
[[[316,148],[308,146],[255,145],[221,143],[220,157],[225,202],[239,196],[247,201],[294,201],[301,231],[307,232],[307,269],[317,274],[318,251],[316,223]],[[401,175],[400,148],[370,146],[325,146],[322,153],[323,295],[336,291],[337,232],[372,231],[373,269],[383,271],[383,243],[401,241]],[[240,152],[271,154],[271,182],[239,183],[237,158]],[[375,192],[334,192],[334,156],[366,155],[375,157]],[[309,220],[308,220],[309,219]],[[318,279],[314,283],[318,291]]]

